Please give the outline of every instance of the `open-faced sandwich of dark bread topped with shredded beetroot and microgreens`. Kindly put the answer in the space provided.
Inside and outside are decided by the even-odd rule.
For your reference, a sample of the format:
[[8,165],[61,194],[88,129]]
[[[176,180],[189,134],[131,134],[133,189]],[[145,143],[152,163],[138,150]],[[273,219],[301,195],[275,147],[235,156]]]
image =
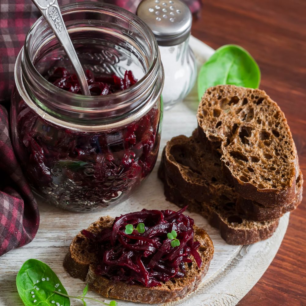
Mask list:
[[73,239],[64,267],[105,297],[180,300],[197,289],[214,253],[205,230],[183,214],[186,208],[101,217]]

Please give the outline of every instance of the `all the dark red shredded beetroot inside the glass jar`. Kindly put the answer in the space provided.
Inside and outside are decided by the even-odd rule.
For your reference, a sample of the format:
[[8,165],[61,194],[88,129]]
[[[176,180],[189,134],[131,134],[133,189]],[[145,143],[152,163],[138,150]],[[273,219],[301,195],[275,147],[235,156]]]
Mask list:
[[[93,76],[91,93],[111,94],[136,83],[131,71],[124,78]],[[80,93],[76,76],[56,68],[47,79],[67,91]],[[86,133],[52,125],[20,101],[18,154],[31,185],[59,206],[82,211],[125,200],[153,169],[160,140],[159,106],[128,126]],[[121,195],[124,193],[123,195]]]

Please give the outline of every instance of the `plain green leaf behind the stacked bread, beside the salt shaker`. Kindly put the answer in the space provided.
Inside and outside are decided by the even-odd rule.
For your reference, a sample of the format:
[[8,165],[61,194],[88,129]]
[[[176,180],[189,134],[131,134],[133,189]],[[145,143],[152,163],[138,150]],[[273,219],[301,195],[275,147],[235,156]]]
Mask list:
[[198,97],[201,100],[207,88],[216,85],[258,88],[260,69],[242,47],[225,45],[220,47],[201,67],[198,75]]

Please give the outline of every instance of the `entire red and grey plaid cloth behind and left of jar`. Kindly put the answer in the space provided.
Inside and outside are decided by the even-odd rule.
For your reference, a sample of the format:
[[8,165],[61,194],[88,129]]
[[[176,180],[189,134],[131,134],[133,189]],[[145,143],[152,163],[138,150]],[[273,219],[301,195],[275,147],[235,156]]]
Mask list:
[[[200,0],[183,0],[192,13]],[[58,0],[60,5],[71,3]],[[140,0],[106,0],[136,12]],[[14,66],[26,33],[40,13],[30,0],[0,0],[0,103],[10,99]],[[0,256],[29,243],[39,226],[39,212],[21,172],[9,136],[8,114],[0,105]]]

